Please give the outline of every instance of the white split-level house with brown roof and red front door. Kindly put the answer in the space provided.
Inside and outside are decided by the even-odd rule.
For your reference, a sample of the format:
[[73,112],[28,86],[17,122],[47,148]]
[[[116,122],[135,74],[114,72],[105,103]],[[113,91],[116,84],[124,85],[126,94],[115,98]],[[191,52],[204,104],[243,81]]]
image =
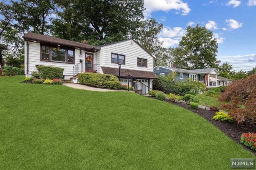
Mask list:
[[33,71],[38,71],[36,65],[64,68],[63,79],[73,80],[80,72],[118,76],[120,63],[122,84],[128,84],[128,74],[149,87],[152,87],[152,80],[157,78],[153,72],[154,57],[133,39],[96,47],[86,41],[79,43],[31,32],[26,33],[23,38],[26,77],[30,77]]

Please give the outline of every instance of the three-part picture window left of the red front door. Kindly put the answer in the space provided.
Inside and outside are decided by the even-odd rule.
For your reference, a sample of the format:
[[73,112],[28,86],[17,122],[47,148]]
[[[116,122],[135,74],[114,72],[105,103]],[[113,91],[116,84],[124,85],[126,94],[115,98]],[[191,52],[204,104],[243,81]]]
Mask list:
[[74,50],[41,45],[41,60],[73,64]]

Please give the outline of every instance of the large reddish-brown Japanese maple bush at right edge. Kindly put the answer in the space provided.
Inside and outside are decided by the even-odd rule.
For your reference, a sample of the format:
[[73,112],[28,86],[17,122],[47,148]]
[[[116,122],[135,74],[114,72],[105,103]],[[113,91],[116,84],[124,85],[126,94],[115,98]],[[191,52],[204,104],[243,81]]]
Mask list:
[[221,108],[229,109],[228,113],[235,121],[256,123],[256,74],[236,80],[230,84],[218,99]]

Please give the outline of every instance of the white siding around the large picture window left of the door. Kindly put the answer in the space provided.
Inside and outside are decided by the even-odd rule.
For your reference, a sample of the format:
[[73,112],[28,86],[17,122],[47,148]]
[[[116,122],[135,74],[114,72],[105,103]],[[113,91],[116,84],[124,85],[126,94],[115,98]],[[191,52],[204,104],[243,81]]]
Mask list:
[[[36,69],[36,65],[45,65],[45,66],[56,66],[56,67],[61,67],[64,68],[64,78],[68,79],[73,76],[74,70],[73,66],[75,64],[78,64],[80,62],[80,59],[85,62],[85,51],[82,51],[82,55],[80,55],[80,50],[76,49],[75,50],[75,64],[67,64],[67,63],[57,63],[57,62],[48,62],[48,61],[40,61],[40,43],[34,43],[34,42],[28,42],[29,43],[29,59],[28,59],[28,75],[26,76],[31,76],[31,73],[33,71],[38,71]],[[26,73],[26,64],[27,64],[27,45],[25,41],[25,73]],[[94,57],[95,58],[95,57]]]

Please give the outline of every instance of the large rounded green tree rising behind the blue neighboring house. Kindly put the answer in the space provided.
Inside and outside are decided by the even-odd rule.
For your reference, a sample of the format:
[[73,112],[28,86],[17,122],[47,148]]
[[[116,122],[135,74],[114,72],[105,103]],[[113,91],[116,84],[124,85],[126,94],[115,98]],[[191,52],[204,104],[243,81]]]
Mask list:
[[179,47],[189,50],[189,55],[185,56],[184,60],[190,64],[190,67],[200,69],[218,66],[220,63],[216,59],[218,43],[216,38],[213,38],[212,31],[207,30],[206,27],[200,27],[198,24],[195,27],[188,26],[186,31]]

